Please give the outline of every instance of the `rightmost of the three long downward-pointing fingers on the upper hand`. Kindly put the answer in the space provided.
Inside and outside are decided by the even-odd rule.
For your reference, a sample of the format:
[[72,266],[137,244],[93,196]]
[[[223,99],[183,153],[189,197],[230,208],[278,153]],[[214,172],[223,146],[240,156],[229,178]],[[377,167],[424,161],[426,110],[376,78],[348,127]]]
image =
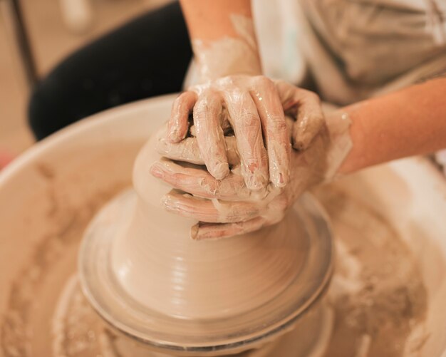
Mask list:
[[274,83],[264,77],[259,77],[252,94],[268,150],[270,180],[274,186],[284,187],[289,182],[291,145],[279,94]]

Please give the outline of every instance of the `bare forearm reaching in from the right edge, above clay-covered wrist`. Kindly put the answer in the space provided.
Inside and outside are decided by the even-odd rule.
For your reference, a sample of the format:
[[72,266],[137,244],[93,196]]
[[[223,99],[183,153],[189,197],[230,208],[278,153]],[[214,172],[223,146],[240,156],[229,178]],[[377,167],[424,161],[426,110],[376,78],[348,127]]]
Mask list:
[[365,100],[339,113],[351,119],[353,142],[341,173],[446,148],[445,78]]

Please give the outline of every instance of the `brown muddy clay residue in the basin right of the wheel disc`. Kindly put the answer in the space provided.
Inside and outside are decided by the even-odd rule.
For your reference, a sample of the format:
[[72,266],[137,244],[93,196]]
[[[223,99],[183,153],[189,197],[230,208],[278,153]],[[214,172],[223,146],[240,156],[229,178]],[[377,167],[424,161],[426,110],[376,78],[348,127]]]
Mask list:
[[418,262],[378,212],[333,187],[317,193],[337,250],[329,292],[336,320],[326,356],[403,356],[427,310]]

